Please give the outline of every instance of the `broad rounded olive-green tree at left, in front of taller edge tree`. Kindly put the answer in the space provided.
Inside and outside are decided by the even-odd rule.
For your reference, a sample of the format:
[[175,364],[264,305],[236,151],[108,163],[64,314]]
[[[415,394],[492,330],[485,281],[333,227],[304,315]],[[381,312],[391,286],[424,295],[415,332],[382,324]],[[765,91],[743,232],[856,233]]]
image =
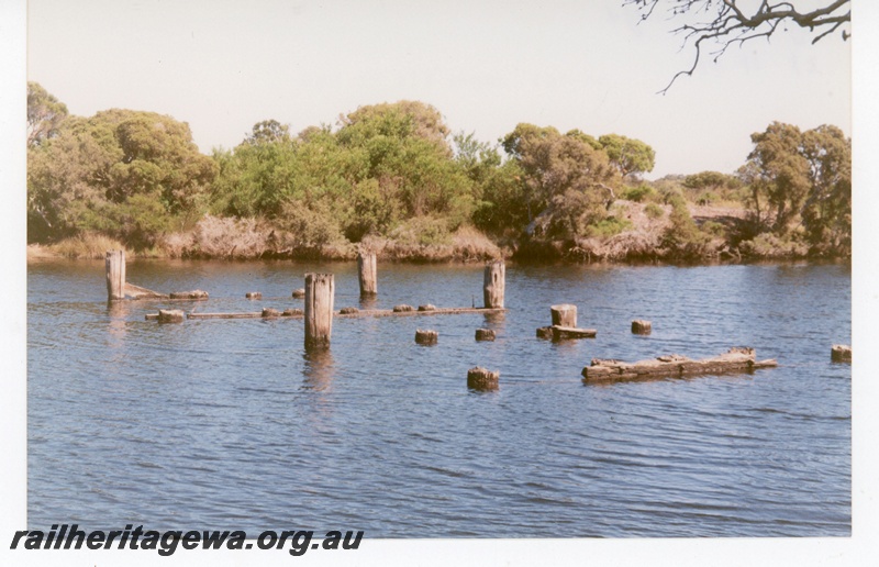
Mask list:
[[170,116],[113,109],[69,118],[29,152],[29,235],[100,231],[149,246],[203,212],[215,174],[189,125]]

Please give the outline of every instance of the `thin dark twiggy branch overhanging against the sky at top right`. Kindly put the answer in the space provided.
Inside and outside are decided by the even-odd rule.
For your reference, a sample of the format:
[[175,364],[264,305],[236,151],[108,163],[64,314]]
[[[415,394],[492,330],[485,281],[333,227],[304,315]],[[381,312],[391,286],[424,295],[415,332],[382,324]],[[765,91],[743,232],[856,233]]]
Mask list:
[[[715,44],[708,55],[716,62],[732,45],[742,45],[750,40],[769,40],[779,29],[788,24],[798,25],[816,34],[812,43],[842,29],[842,38],[849,37],[852,21],[850,0],[824,0],[823,3],[770,2],[768,0],[624,0],[623,5],[635,5],[642,21],[649,19],[660,4],[670,19],[683,21],[672,30],[683,35],[683,44],[696,48],[689,69],[675,74],[660,92],[665,93],[682,75],[692,75],[702,58],[705,43]],[[802,8],[804,4],[810,8]]]

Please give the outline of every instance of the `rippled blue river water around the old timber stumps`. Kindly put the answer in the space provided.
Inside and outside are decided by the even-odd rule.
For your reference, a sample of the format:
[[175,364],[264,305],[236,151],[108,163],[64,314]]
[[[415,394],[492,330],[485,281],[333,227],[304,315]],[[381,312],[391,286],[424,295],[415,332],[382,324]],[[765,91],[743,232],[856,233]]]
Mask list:
[[[203,289],[187,311],[481,303],[481,266],[130,262],[129,281]],[[502,315],[145,321],[108,304],[103,262],[29,265],[27,523],[47,529],[364,530],[367,537],[848,536],[848,265],[516,266]],[[244,298],[260,291],[262,301]],[[574,303],[593,340],[535,337]],[[631,321],[653,322],[649,336]],[[438,344],[414,343],[416,327]],[[497,331],[477,343],[478,327]],[[779,367],[587,386],[592,357],[708,357],[747,345]],[[500,370],[469,391],[468,368]]]

